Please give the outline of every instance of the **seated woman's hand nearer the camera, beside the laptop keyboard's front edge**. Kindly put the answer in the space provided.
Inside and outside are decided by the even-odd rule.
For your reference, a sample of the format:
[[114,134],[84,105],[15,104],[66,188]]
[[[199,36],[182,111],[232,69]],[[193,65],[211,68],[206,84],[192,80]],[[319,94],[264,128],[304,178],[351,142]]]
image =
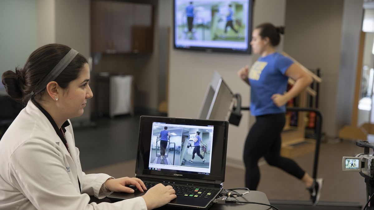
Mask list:
[[142,198],[147,204],[147,209],[150,210],[169,203],[171,200],[177,198],[177,195],[175,195],[175,190],[172,188],[172,186],[164,186],[163,184],[159,183],[148,189],[148,191],[142,195]]

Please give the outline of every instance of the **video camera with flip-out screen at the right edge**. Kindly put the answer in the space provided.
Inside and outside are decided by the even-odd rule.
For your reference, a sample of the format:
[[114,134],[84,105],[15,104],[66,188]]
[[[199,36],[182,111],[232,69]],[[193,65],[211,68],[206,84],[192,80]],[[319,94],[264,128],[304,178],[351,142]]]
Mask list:
[[364,153],[357,154],[354,157],[343,157],[341,170],[359,172],[365,178],[366,197],[368,199],[365,207],[367,207],[367,210],[374,210],[374,200],[371,199],[374,195],[374,156],[369,154],[370,148],[374,151],[374,144],[367,141],[359,141],[356,142],[356,145],[363,147]]

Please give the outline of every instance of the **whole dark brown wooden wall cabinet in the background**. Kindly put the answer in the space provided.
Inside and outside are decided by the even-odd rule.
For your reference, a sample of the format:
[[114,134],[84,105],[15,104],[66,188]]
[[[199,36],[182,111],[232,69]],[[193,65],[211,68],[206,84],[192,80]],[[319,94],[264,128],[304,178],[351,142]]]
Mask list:
[[122,1],[91,1],[91,52],[152,51],[152,5]]

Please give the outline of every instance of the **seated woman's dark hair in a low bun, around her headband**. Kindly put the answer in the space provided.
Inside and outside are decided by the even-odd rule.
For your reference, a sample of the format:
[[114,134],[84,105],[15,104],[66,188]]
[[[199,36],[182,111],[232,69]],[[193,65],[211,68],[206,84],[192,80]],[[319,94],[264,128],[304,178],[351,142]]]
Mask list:
[[[22,104],[26,104],[31,98],[31,92],[35,90],[40,81],[61,61],[70,51],[70,47],[63,44],[47,44],[39,47],[28,57],[23,69],[15,68],[15,71],[6,71],[1,78],[8,95]],[[62,88],[67,88],[69,83],[78,78],[86,58],[80,53],[54,80]],[[45,89],[33,95],[36,101],[42,99]]]

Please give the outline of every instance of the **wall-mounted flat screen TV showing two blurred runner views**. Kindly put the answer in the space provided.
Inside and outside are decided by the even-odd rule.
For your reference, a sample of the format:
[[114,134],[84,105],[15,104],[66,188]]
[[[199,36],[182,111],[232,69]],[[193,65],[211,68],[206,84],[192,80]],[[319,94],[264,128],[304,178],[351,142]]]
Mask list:
[[253,0],[174,0],[174,48],[250,53]]

